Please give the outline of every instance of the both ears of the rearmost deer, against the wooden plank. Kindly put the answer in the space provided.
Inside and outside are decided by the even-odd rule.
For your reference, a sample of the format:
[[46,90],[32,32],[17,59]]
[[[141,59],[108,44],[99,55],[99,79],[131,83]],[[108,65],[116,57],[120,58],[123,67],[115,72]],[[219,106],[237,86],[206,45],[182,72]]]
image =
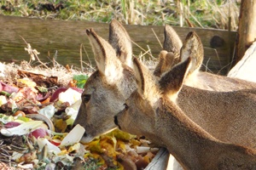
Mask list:
[[189,69],[188,75],[194,71],[199,70],[203,62],[203,45],[201,43],[200,37],[198,37],[195,31],[189,32],[185,38],[185,41],[182,42],[172,26],[165,26],[165,41],[163,44],[163,51],[166,51],[166,54],[163,52],[160,53],[165,54],[165,56],[160,57],[159,65],[157,65],[159,71],[154,72],[156,76],[160,76],[162,72],[171,69],[172,65],[177,63],[176,59],[174,59],[177,56],[178,62],[184,61],[188,57],[191,58],[191,67]]

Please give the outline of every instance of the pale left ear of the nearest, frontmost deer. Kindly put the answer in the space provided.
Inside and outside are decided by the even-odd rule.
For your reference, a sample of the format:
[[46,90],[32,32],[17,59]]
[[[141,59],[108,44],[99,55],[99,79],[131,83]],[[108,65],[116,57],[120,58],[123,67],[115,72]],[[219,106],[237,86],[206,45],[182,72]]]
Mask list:
[[137,79],[137,91],[150,102],[158,99],[159,88],[153,74],[137,58],[133,59],[133,71]]

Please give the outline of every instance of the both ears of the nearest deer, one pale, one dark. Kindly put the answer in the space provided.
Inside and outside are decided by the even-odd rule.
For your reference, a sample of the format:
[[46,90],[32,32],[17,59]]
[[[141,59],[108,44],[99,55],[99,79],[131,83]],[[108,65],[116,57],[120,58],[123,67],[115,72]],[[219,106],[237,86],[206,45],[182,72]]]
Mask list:
[[183,62],[175,65],[170,71],[166,71],[158,82],[156,82],[157,79],[153,76],[151,71],[149,71],[139,59],[134,58],[133,64],[140,94],[143,94],[146,98],[151,98],[161,93],[175,100],[189,71],[191,58],[188,57]]

